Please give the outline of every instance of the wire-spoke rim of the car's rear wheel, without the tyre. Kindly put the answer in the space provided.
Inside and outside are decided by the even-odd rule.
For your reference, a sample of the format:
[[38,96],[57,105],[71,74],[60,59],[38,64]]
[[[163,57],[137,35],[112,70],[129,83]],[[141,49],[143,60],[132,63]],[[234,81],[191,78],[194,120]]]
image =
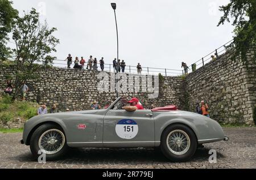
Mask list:
[[180,129],[170,132],[167,136],[166,143],[168,149],[176,155],[187,153],[191,145],[188,134]]

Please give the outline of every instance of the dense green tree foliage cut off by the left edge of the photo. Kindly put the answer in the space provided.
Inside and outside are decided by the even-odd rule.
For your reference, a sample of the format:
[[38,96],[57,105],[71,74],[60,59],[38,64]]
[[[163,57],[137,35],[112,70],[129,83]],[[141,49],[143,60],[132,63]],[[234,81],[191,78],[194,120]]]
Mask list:
[[9,32],[11,32],[11,23],[18,16],[18,11],[11,6],[13,2],[8,0],[0,0],[0,60],[5,60],[10,53],[10,49],[6,47],[9,41]]

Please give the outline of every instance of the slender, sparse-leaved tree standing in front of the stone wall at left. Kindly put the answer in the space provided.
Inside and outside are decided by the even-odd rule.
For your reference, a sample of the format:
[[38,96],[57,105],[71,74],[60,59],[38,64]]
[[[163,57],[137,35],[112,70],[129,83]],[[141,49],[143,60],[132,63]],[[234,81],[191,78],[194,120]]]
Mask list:
[[13,22],[13,40],[16,48],[13,52],[15,59],[15,99],[20,93],[22,83],[27,79],[37,78],[39,71],[52,65],[56,57],[49,54],[56,52],[59,39],[52,34],[56,28],[48,28],[47,23],[39,22],[39,13],[32,9],[24,12],[23,17],[18,17]]

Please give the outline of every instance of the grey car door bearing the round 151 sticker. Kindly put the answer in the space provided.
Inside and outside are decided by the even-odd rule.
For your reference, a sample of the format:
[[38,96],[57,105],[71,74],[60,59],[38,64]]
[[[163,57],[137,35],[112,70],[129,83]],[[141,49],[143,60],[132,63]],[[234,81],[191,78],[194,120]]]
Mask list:
[[106,147],[154,146],[154,117],[151,110],[109,110],[104,118]]

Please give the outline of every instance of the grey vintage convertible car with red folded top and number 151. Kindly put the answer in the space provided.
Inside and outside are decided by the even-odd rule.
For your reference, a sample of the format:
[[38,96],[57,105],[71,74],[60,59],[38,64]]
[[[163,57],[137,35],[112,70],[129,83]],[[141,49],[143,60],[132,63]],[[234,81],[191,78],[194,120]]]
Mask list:
[[69,147],[160,147],[171,161],[187,161],[199,145],[228,140],[215,120],[174,105],[134,112],[123,106],[118,98],[105,110],[35,116],[24,124],[21,143],[30,145],[35,157],[41,150],[47,161],[63,156]]

